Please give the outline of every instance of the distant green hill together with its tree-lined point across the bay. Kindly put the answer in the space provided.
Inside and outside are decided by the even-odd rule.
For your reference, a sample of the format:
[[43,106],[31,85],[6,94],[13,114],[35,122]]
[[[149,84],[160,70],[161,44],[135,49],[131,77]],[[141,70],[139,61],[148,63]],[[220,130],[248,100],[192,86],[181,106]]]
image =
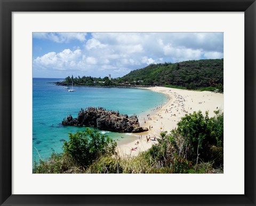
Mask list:
[[223,92],[223,59],[150,64],[120,78],[67,77],[57,85],[166,86]]

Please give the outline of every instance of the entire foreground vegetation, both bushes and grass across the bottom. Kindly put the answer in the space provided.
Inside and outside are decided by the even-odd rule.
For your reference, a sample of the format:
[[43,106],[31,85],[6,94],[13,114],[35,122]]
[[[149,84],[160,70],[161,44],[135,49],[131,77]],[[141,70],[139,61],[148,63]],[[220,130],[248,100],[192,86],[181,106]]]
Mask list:
[[212,173],[223,167],[223,112],[209,118],[201,111],[186,114],[177,129],[164,131],[138,156],[115,152],[108,136],[86,129],[69,134],[63,153],[34,164],[35,173]]

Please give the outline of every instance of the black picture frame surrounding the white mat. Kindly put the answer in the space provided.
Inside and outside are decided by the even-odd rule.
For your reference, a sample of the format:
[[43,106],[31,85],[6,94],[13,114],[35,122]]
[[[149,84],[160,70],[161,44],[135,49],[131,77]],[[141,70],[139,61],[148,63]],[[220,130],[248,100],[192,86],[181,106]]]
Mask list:
[[[0,0],[0,204],[1,205],[255,205],[255,0]],[[244,12],[245,194],[244,195],[13,195],[12,12],[193,11]],[[237,61],[237,60],[234,60]],[[235,179],[234,179],[235,182]],[[234,183],[235,184],[235,183]]]

